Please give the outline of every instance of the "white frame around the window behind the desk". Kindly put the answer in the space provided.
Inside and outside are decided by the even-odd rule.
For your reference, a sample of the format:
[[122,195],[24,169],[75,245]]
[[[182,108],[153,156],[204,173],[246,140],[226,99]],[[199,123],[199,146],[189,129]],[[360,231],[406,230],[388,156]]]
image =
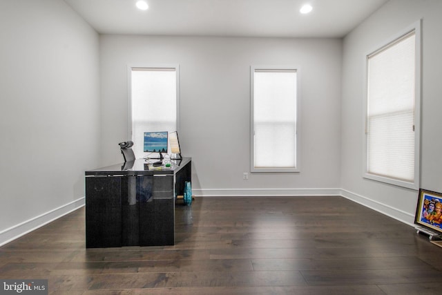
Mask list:
[[175,70],[176,81],[176,131],[180,134],[180,65],[179,64],[157,64],[157,65],[128,65],[127,66],[127,88],[128,88],[128,104],[127,104],[127,137],[133,140],[133,121],[132,121],[132,70],[134,69],[152,69],[152,70]]

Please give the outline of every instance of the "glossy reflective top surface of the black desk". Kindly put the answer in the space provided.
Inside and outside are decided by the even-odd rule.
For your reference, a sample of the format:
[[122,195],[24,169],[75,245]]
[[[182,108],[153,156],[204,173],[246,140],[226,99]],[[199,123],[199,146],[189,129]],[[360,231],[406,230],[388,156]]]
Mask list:
[[171,160],[171,167],[153,167],[144,159],[114,164],[85,172],[86,176],[93,175],[160,175],[175,174],[182,167],[191,162],[192,158],[182,158],[182,160]]

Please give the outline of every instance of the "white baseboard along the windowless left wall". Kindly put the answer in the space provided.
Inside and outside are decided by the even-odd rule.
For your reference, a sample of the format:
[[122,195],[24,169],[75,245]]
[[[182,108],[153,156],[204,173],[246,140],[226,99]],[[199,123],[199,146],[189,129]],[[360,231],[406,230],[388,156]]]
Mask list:
[[47,225],[49,222],[60,218],[61,216],[65,216],[66,214],[83,207],[86,199],[79,198],[73,202],[68,204],[64,204],[61,207],[48,211],[46,213],[41,214],[40,216],[36,216],[35,218],[31,218],[30,220],[26,220],[21,222],[19,225],[15,225],[10,227],[9,229],[5,229],[0,232],[0,246],[11,242],[25,234],[28,234],[30,231],[34,231],[39,227]]

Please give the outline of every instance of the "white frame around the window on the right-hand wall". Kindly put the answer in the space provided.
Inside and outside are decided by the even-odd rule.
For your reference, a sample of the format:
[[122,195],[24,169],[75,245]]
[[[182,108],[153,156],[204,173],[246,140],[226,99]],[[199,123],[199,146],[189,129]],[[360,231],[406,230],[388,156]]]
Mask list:
[[[380,53],[383,50],[397,44],[404,37],[414,32],[415,35],[415,68],[414,68],[414,180],[408,182],[406,180],[398,180],[386,175],[376,175],[368,172],[368,63],[369,57]],[[364,83],[364,102],[363,102],[363,178],[368,180],[375,180],[386,184],[392,184],[398,187],[407,189],[419,190],[420,185],[420,158],[421,158],[421,59],[422,59],[422,41],[421,41],[421,20],[412,23],[400,32],[384,41],[380,46],[376,46],[375,50],[371,50],[365,55],[365,83]]]

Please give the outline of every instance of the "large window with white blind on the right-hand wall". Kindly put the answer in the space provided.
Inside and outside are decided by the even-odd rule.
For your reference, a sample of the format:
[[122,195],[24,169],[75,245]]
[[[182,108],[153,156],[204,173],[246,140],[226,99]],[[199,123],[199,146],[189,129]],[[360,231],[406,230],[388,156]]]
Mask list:
[[365,177],[419,189],[418,26],[367,55]]

